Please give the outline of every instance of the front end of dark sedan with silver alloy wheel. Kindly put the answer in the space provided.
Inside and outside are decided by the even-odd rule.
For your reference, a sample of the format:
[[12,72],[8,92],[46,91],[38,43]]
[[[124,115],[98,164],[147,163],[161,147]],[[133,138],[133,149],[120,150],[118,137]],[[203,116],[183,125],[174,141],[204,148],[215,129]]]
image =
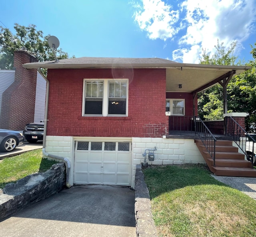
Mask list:
[[0,151],[13,151],[24,141],[24,136],[18,131],[0,129]]

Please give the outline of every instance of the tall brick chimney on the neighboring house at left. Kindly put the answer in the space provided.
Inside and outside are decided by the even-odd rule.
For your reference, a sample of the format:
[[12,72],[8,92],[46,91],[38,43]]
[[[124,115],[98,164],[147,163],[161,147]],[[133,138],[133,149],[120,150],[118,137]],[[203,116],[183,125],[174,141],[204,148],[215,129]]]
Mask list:
[[34,121],[37,70],[22,67],[30,62],[38,60],[25,51],[14,52],[14,82],[2,94],[2,129],[23,130],[26,123]]

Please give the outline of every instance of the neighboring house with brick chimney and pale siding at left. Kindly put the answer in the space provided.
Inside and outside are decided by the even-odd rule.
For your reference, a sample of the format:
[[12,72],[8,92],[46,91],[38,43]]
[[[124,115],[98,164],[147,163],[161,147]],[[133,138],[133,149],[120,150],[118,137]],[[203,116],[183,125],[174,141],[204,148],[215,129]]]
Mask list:
[[0,128],[23,131],[26,123],[44,120],[46,80],[37,69],[22,64],[38,62],[25,51],[14,52],[14,70],[0,70]]

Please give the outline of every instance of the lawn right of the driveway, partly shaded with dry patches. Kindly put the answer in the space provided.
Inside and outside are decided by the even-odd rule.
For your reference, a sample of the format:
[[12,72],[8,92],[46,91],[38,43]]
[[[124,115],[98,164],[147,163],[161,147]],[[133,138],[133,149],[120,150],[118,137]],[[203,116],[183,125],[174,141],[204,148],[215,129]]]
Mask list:
[[210,176],[205,165],[143,169],[158,236],[256,236],[256,201]]

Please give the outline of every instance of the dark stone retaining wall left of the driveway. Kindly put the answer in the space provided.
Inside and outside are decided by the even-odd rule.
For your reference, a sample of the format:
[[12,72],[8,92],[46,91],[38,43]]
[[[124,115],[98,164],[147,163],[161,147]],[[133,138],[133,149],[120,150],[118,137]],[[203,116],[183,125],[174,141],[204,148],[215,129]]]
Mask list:
[[52,165],[44,173],[28,175],[0,189],[0,220],[62,190],[66,182],[64,163]]

